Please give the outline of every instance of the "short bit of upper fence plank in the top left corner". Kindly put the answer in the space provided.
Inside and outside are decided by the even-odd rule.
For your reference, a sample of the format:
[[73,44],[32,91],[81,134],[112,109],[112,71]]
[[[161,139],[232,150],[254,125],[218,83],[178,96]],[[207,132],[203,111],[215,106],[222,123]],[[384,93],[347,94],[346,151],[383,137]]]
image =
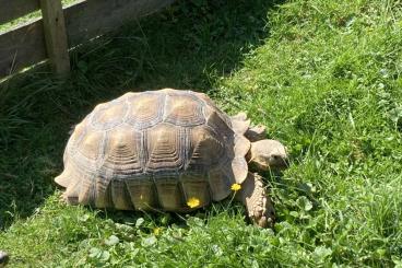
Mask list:
[[39,0],[0,0],[0,24],[39,9]]

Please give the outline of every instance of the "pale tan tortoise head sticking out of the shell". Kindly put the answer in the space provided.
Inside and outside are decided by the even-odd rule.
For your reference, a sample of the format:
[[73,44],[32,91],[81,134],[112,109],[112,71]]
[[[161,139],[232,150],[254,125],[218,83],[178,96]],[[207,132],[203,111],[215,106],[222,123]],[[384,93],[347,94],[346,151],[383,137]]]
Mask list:
[[287,150],[277,140],[264,139],[251,142],[247,159],[262,171],[280,171],[288,166]]

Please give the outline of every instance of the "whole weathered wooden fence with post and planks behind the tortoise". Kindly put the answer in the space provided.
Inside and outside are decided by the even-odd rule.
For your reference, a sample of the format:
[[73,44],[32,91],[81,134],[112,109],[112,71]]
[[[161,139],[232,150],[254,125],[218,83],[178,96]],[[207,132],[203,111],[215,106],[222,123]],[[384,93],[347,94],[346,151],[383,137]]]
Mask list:
[[0,0],[0,24],[36,10],[43,18],[0,33],[0,78],[49,59],[52,71],[70,70],[68,49],[175,0]]

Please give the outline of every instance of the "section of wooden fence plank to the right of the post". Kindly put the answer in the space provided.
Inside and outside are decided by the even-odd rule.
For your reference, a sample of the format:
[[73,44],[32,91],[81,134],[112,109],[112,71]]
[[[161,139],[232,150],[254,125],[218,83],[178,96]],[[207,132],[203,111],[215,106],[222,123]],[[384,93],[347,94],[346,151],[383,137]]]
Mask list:
[[170,4],[174,0],[87,0],[64,10],[70,47]]

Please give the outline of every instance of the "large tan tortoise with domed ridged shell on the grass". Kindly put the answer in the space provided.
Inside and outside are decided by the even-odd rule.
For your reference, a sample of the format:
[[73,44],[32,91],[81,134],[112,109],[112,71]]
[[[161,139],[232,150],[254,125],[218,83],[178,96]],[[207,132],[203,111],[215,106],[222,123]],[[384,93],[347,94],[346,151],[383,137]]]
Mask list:
[[74,127],[55,180],[68,203],[118,210],[188,212],[237,190],[249,218],[267,226],[274,208],[248,164],[282,170],[287,154],[265,136],[245,113],[229,117],[203,93],[129,92]]

